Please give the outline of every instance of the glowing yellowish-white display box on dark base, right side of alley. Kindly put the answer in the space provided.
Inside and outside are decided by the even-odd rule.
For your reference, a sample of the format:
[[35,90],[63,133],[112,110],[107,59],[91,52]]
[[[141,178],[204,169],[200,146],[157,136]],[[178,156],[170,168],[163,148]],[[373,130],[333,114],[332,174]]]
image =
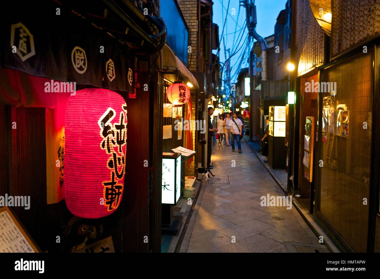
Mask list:
[[287,146],[286,106],[269,106],[268,164],[272,169],[285,169]]

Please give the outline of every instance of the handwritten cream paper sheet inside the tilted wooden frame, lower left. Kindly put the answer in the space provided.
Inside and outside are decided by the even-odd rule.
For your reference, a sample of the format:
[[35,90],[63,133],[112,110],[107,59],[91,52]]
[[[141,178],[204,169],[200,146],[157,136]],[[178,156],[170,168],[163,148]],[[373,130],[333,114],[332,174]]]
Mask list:
[[34,253],[8,211],[0,212],[0,253]]

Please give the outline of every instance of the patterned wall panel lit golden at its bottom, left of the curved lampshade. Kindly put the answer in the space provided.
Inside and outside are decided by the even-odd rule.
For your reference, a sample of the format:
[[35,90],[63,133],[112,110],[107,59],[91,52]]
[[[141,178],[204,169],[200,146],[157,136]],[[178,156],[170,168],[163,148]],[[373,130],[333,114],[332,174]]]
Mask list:
[[313,15],[308,0],[296,2],[296,57],[298,75],[323,64],[325,32]]

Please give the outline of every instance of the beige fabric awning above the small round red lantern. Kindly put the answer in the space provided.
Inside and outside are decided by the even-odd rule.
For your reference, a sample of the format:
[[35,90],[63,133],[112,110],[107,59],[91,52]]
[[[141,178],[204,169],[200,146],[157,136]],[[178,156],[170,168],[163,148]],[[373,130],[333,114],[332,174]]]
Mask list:
[[186,68],[184,63],[177,57],[177,55],[174,54],[173,50],[165,44],[162,48],[162,56],[163,56],[163,69],[177,69],[179,70],[193,85],[193,88],[190,89],[198,89],[199,90],[199,84],[196,78],[193,76],[193,74]]

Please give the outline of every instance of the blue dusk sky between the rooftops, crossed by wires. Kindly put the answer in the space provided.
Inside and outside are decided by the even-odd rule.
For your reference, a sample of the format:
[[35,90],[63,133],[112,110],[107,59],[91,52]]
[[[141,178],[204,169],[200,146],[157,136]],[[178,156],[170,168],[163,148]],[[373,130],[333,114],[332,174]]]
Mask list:
[[[222,29],[223,29],[223,22],[225,20],[226,16],[226,9],[228,5],[228,0],[213,0],[213,22],[219,25],[219,39],[222,38]],[[222,3],[224,8],[222,7]],[[279,15],[280,11],[282,9],[285,9],[285,3],[286,0],[256,0],[256,13],[257,13],[257,27],[256,31],[262,36],[266,37],[269,35],[272,35],[274,33],[274,25],[277,19],[277,16]],[[232,15],[232,8],[236,9],[236,15]],[[234,31],[237,24],[237,32],[236,37],[239,35],[239,30],[241,27],[245,28],[245,8],[243,6],[240,7],[240,15],[238,16],[239,11],[239,0],[230,0],[230,6],[228,8],[228,13],[230,15],[227,16],[227,22],[226,26],[223,32],[224,39],[226,42],[226,49],[230,48],[233,49],[233,43],[234,43]],[[237,22],[237,23],[236,23]],[[241,46],[243,44],[243,41],[245,37],[248,35],[248,31],[245,28],[245,34],[242,38]],[[235,38],[235,44],[237,43],[237,38]],[[245,46],[245,44],[244,44]],[[237,74],[235,76],[232,76],[234,73],[237,73],[238,69],[238,63],[240,61],[242,52],[244,50],[244,46],[242,49],[234,55],[233,58],[231,58],[231,78],[232,82],[236,81]],[[237,46],[234,47],[235,49]],[[216,54],[217,50],[213,50],[213,53]],[[220,43],[220,61],[225,61],[225,55],[224,55],[224,47],[223,47],[223,39]],[[228,57],[228,53],[227,53]],[[244,61],[242,63],[242,68],[247,67],[248,64],[246,63],[246,58],[244,58]],[[224,79],[224,76],[223,76]]]

